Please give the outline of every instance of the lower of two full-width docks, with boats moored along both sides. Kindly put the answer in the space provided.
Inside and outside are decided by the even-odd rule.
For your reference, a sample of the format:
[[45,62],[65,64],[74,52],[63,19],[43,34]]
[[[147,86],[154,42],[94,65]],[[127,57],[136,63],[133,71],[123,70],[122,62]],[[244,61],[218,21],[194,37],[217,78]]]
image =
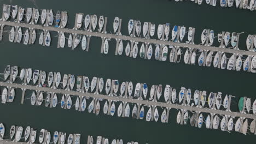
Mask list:
[[[10,65],[7,65],[7,67],[5,68],[5,71],[4,71],[5,80],[7,80],[8,77],[10,77],[10,81],[13,80],[12,78],[13,78],[13,69],[14,68],[15,67],[10,67]],[[75,102],[75,109],[76,110],[79,109],[79,111],[84,111],[85,108],[88,107],[88,112],[91,113],[93,110],[93,113],[96,113],[96,115],[98,115],[98,113],[100,113],[99,101],[107,100],[108,103],[107,103],[107,101],[105,101],[103,112],[104,112],[104,114],[107,113],[107,115],[111,115],[111,116],[113,116],[115,113],[115,109],[116,109],[115,103],[117,103],[117,102],[118,103],[121,102],[121,104],[122,104],[122,105],[121,104],[119,105],[120,108],[118,107],[117,113],[118,113],[119,117],[120,116],[129,117],[130,116],[130,114],[129,114],[130,108],[127,109],[127,106],[129,106],[130,104],[136,104],[135,106],[133,106],[132,117],[137,118],[137,119],[138,118],[143,119],[144,113],[146,113],[146,112],[144,112],[144,107],[148,106],[149,110],[146,115],[146,121],[158,121],[158,118],[160,115],[158,113],[157,107],[161,107],[162,109],[164,108],[164,111],[162,112],[162,115],[161,115],[162,123],[168,123],[169,111],[171,109],[181,110],[181,111],[179,111],[179,113],[177,115],[177,123],[179,123],[179,124],[183,124],[181,119],[184,119],[184,123],[187,124],[187,121],[188,121],[187,119],[189,117],[188,111],[192,112],[193,116],[192,116],[192,119],[190,119],[190,124],[195,127],[197,127],[197,119],[198,119],[198,121],[200,121],[199,118],[202,117],[201,116],[202,113],[209,113],[212,115],[212,119],[209,120],[209,124],[212,124],[212,123],[213,123],[213,125],[217,124],[216,128],[214,128],[214,129],[218,129],[219,122],[213,121],[213,116],[217,117],[217,119],[218,119],[218,116],[223,116],[223,118],[225,118],[225,120],[222,120],[222,122],[228,121],[226,119],[228,119],[229,117],[231,117],[231,119],[235,118],[235,117],[239,117],[237,119],[237,122],[239,121],[240,123],[243,122],[243,119],[246,119],[245,121],[247,121],[247,119],[256,119],[256,115],[254,115],[256,113],[256,100],[254,101],[254,103],[252,105],[251,99],[247,99],[246,97],[241,97],[240,100],[238,101],[238,108],[239,108],[240,112],[233,112],[230,110],[230,103],[231,103],[231,98],[234,96],[226,94],[224,100],[222,101],[223,98],[222,98],[221,92],[218,92],[218,93],[211,92],[207,98],[206,91],[196,90],[194,92],[194,95],[192,98],[191,89],[189,89],[189,88],[186,89],[186,88],[182,87],[181,91],[179,91],[179,93],[178,93],[178,98],[177,98],[176,89],[166,85],[165,90],[164,90],[164,95],[163,95],[165,97],[164,98],[165,101],[163,102],[160,99],[161,95],[162,95],[162,85],[158,85],[158,86],[153,85],[152,88],[150,89],[150,98],[149,98],[149,100],[147,100],[147,93],[148,93],[147,87],[148,86],[146,83],[137,83],[136,87],[135,87],[134,94],[132,95],[132,91],[133,91],[132,85],[131,85],[132,83],[131,82],[123,82],[122,85],[120,86],[120,94],[119,94],[118,93],[119,81],[109,79],[106,82],[106,87],[105,87],[106,94],[100,94],[104,87],[103,79],[93,77],[93,79],[90,83],[90,80],[88,79],[88,77],[78,76],[77,82],[75,82],[74,75],[67,75],[68,79],[63,78],[62,83],[65,83],[65,85],[63,85],[63,87],[62,87],[63,89],[60,89],[60,88],[58,88],[59,84],[56,85],[56,83],[61,82],[60,73],[50,72],[49,75],[51,75],[51,76],[48,75],[48,85],[46,85],[46,84],[42,83],[42,81],[45,80],[45,78],[42,79],[42,77],[45,77],[45,76],[42,76],[43,71],[40,71],[40,72],[37,72],[37,71],[33,71],[33,79],[35,77],[35,74],[36,75],[38,73],[40,74],[38,76],[38,83],[37,82],[34,83],[34,86],[30,85],[30,81],[28,81],[32,77],[31,69],[25,69],[25,74],[23,74],[23,72],[22,72],[22,74],[20,76],[21,77],[20,79],[24,80],[24,82],[22,84],[7,81],[7,82],[0,82],[0,86],[7,87],[9,89],[10,89],[10,87],[22,89],[21,104],[24,104],[24,99],[25,99],[24,91],[26,91],[27,89],[36,91],[36,94],[34,92],[32,93],[32,96],[30,99],[31,99],[32,105],[36,104],[39,106],[42,104],[42,102],[44,100],[44,98],[43,98],[44,92],[48,93],[47,97],[49,97],[49,98],[46,98],[46,100],[45,100],[46,101],[45,106],[46,106],[46,103],[48,103],[48,104],[50,103],[50,107],[56,107],[57,103],[59,103],[57,101],[56,94],[63,94],[62,99],[63,98],[64,99],[61,100],[61,105],[63,104],[63,107],[65,107],[64,109],[66,109],[66,108],[71,109],[71,107],[74,106],[74,105],[72,105],[71,95],[79,95],[79,97],[77,97],[77,101]],[[45,73],[45,71],[44,71],[44,73]],[[57,77],[57,74],[59,74],[59,78]],[[65,77],[65,75],[63,77]],[[76,83],[77,91],[72,91],[75,83]],[[67,87],[66,87],[66,85],[67,85]],[[88,86],[91,88],[90,93],[89,93],[88,89],[86,89],[86,87],[88,87]],[[142,89],[141,89],[141,87],[142,87]],[[107,90],[107,89],[110,89],[110,93],[109,93],[109,90]],[[152,89],[155,89],[155,90],[152,91]],[[172,89],[173,89],[173,91],[172,91]],[[7,98],[7,95],[10,95],[10,94],[7,94],[7,92],[3,91],[2,103],[3,103],[3,100]],[[66,96],[66,98],[65,98],[65,96]],[[90,99],[92,98],[92,101],[89,106],[86,106],[86,103],[88,103],[88,102],[86,102],[86,101],[88,101],[86,99],[88,99],[88,98],[90,98]],[[80,103],[79,103],[79,100],[80,100]],[[179,101],[178,103],[176,102],[177,100]],[[190,103],[190,100],[193,102]],[[103,103],[103,101],[101,103]],[[205,105],[207,105],[206,103],[208,104],[208,108],[205,106]],[[226,110],[220,110],[219,109],[220,105],[222,105],[224,107],[224,109],[226,109]],[[251,107],[253,109],[253,111],[252,111],[253,113],[250,113]],[[246,113],[246,110],[248,113]],[[126,111],[128,111],[128,113]],[[125,113],[122,115],[121,112],[125,112]],[[199,115],[200,115],[200,117],[199,117]],[[201,121],[203,121],[203,120],[201,120]],[[254,123],[254,122],[255,122],[255,120],[252,123]],[[236,126],[235,131],[240,131],[241,133],[246,135],[247,129],[245,131],[245,129],[243,129],[243,127],[241,127],[241,125],[239,124],[239,126]],[[198,125],[198,127],[199,127],[199,125]],[[225,131],[227,125],[226,124],[224,126],[220,125],[220,127],[221,128],[224,127],[224,128],[222,128],[222,130]],[[233,127],[233,123],[232,123],[232,127]],[[255,125],[252,127],[253,127],[253,130],[251,131],[251,133],[254,133]],[[199,128],[201,128],[201,126]],[[233,128],[231,128],[231,130],[232,129]]]

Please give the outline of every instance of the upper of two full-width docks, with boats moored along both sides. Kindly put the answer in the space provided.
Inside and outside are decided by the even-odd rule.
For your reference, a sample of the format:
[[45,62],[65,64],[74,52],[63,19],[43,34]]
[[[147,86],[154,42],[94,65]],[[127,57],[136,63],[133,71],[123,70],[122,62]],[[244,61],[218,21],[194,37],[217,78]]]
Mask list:
[[[4,7],[7,7],[7,6],[4,5]],[[36,10],[33,8],[33,11],[36,11]],[[62,11],[61,13],[63,14],[64,12]],[[88,19],[91,19],[90,23],[87,23],[88,27],[85,27],[85,29],[88,28],[88,31],[80,30],[82,28],[81,23],[83,23],[83,20],[78,21],[78,17],[80,17],[79,19],[82,19],[81,18],[81,17],[83,17],[82,13],[76,14],[75,27],[73,29],[65,28],[65,26],[63,26],[63,25],[62,26],[54,26],[54,27],[52,27],[50,25],[43,25],[43,26],[34,25],[33,21],[31,23],[5,21],[4,12],[3,12],[2,21],[0,21],[0,25],[2,27],[13,26],[13,27],[17,27],[17,29],[20,29],[21,27],[28,28],[28,29],[31,29],[30,33],[33,33],[34,29],[40,29],[44,32],[44,34],[43,34],[43,32],[41,33],[42,39],[40,40],[40,38],[39,38],[39,44],[41,43],[43,46],[45,44],[46,44],[46,46],[50,46],[50,43],[51,43],[50,31],[53,31],[53,32],[59,33],[59,38],[58,38],[58,43],[57,43],[58,48],[65,46],[66,38],[65,38],[64,33],[69,33],[68,46],[72,47],[72,50],[74,50],[80,44],[80,41],[82,41],[81,42],[82,50],[89,51],[90,38],[91,37],[101,37],[101,39],[102,39],[101,53],[104,53],[104,54],[107,54],[108,50],[110,49],[110,47],[108,45],[108,39],[115,39],[117,41],[116,47],[115,47],[115,55],[122,55],[123,51],[125,51],[126,56],[128,56],[128,57],[130,56],[130,57],[136,58],[138,55],[137,53],[139,53],[139,56],[141,58],[151,59],[151,56],[153,55],[153,51],[155,51],[154,57],[157,61],[166,61],[166,59],[170,59],[171,63],[179,63],[179,62],[181,62],[181,57],[184,53],[184,52],[182,52],[182,49],[185,49],[185,51],[186,51],[184,54],[184,63],[185,64],[194,65],[196,63],[196,59],[197,59],[196,55],[198,55],[198,53],[201,53],[202,56],[198,58],[199,66],[211,67],[211,65],[213,65],[214,68],[219,68],[219,69],[228,69],[228,70],[236,70],[236,71],[244,70],[244,71],[248,71],[251,73],[256,72],[256,70],[255,70],[256,69],[256,60],[255,60],[256,57],[255,57],[255,49],[254,49],[255,44],[256,44],[256,43],[254,43],[254,39],[256,39],[256,37],[254,37],[254,35],[248,36],[248,38],[246,40],[246,45],[247,45],[248,51],[245,51],[245,50],[238,49],[239,35],[242,34],[243,32],[242,33],[234,33],[233,32],[231,39],[230,39],[230,32],[219,33],[218,34],[218,42],[220,43],[220,46],[216,47],[216,46],[212,46],[213,40],[215,37],[214,37],[214,31],[210,30],[210,29],[203,29],[203,32],[201,34],[202,43],[194,44],[195,28],[189,27],[189,32],[188,32],[188,40],[189,41],[187,41],[186,43],[181,43],[185,36],[185,33],[187,33],[185,30],[186,28],[184,26],[182,26],[182,27],[174,26],[172,29],[172,39],[170,39],[170,41],[169,41],[168,33],[170,33],[170,30],[169,30],[170,24],[167,23],[167,25],[168,25],[167,30],[166,30],[166,25],[159,25],[159,26],[162,26],[161,27],[162,30],[158,29],[158,33],[160,33],[159,40],[158,40],[158,39],[150,39],[150,36],[149,36],[150,31],[151,31],[151,23],[150,22],[149,23],[144,22],[144,23],[147,23],[147,27],[143,29],[145,38],[140,38],[140,37],[136,37],[136,34],[137,34],[137,36],[140,35],[136,31],[136,28],[132,29],[130,36],[122,35],[121,34],[122,19],[119,19],[119,17],[115,17],[115,18],[117,18],[117,20],[116,20],[117,24],[115,24],[115,23],[113,24],[113,25],[115,25],[114,30],[116,29],[115,33],[110,34],[110,33],[106,32],[107,17],[103,18],[103,16],[102,16],[102,19],[101,19],[102,23],[98,24],[101,29],[98,29],[99,32],[96,32],[95,28],[97,26],[97,22],[94,25],[92,25],[93,24],[92,19],[93,19],[93,17],[96,17],[95,19],[97,19],[97,16],[96,15],[91,15],[91,16],[86,15],[86,16],[89,17]],[[63,16],[62,16],[62,18],[63,18]],[[104,23],[103,20],[106,22]],[[133,21],[133,23],[138,23],[138,22],[141,23],[140,21]],[[63,22],[61,21],[61,24],[62,23]],[[78,23],[80,23],[79,26],[77,26]],[[86,23],[86,21],[84,21],[84,23]],[[133,24],[132,24],[132,26],[133,26]],[[139,25],[139,27],[141,28],[141,24]],[[144,25],[143,25],[143,27],[144,27]],[[166,33],[161,32],[161,31],[164,31],[164,29],[165,29]],[[17,31],[18,30],[16,30],[16,32]],[[135,34],[135,32],[136,32],[136,34]],[[10,33],[9,41],[13,41],[13,40],[10,40],[10,38],[15,39],[14,41],[16,41],[16,38],[18,38],[18,37],[15,38],[15,35],[18,35],[18,34],[14,34],[15,33],[14,30],[12,33],[13,34]],[[2,38],[1,34],[3,34],[3,31],[0,33],[0,39]],[[28,32],[27,32],[27,34],[28,34]],[[11,35],[13,35],[13,36],[11,36]],[[41,35],[40,35],[40,37],[41,37]],[[82,35],[83,35],[83,39],[82,39]],[[27,37],[29,37],[29,36],[27,36]],[[30,36],[30,39],[27,40],[27,42],[24,41],[24,43],[31,44],[31,41],[34,41],[32,39],[33,38]],[[131,45],[129,43],[127,43],[127,45],[125,47],[123,45],[123,40],[130,41]],[[139,43],[142,43],[142,44],[139,44]],[[230,46],[230,43],[231,43],[231,46]],[[141,45],[140,48],[138,48],[138,44]],[[155,50],[153,50],[153,48],[152,48],[153,44],[156,46]],[[125,47],[125,50],[124,50],[124,47]],[[127,47],[129,47],[129,48],[127,48]],[[225,47],[227,47],[227,48],[225,48]],[[133,48],[134,48],[134,50],[133,50]],[[230,49],[230,48],[232,48],[232,49]],[[148,49],[149,49],[149,51],[148,51]],[[171,49],[169,57],[168,57],[168,49]],[[129,53],[130,53],[130,55],[129,55]],[[147,53],[147,55],[146,55],[146,53]],[[231,57],[226,57],[226,55],[231,55]],[[212,59],[212,57],[214,57],[214,59]],[[227,61],[227,59],[228,59],[228,61]]]

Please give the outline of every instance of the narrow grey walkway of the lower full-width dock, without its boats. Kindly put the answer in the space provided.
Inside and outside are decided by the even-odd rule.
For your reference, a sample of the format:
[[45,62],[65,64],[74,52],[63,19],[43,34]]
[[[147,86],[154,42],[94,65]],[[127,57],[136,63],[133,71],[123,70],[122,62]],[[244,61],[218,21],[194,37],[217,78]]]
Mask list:
[[[31,89],[31,90],[36,90],[36,91],[60,93],[60,94],[67,94],[67,95],[80,95],[80,96],[96,98],[96,99],[106,99],[106,100],[110,100],[110,102],[111,101],[126,101],[127,103],[152,105],[152,106],[166,107],[169,109],[173,108],[173,109],[183,109],[183,110],[189,110],[189,111],[200,111],[200,112],[206,112],[206,113],[217,113],[219,115],[229,115],[232,117],[245,117],[245,118],[252,118],[252,119],[256,118],[256,115],[252,115],[252,114],[248,114],[248,113],[207,109],[207,108],[203,108],[201,106],[193,107],[193,106],[185,106],[185,105],[178,105],[178,104],[167,104],[167,103],[161,103],[161,102],[157,102],[157,101],[129,99],[129,98],[124,98],[124,97],[109,97],[108,95],[102,95],[102,94],[82,93],[82,92],[75,92],[75,91],[67,91],[65,89],[53,89],[53,88],[48,88],[48,87],[21,85],[18,83],[0,82],[0,86]],[[200,105],[200,103],[199,103],[199,105]]]

